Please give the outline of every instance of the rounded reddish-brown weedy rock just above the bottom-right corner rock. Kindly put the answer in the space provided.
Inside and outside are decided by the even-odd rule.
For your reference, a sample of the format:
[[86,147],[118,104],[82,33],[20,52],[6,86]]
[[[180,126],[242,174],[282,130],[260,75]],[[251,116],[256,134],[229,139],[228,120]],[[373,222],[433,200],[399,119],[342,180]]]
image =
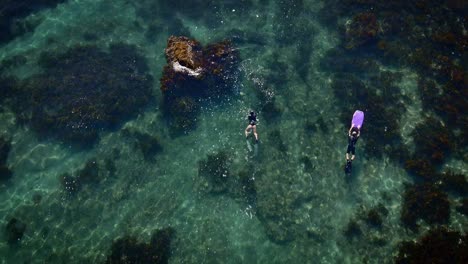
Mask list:
[[428,224],[447,224],[450,218],[450,203],[446,193],[433,184],[408,186],[403,195],[401,221],[416,229],[416,221],[423,219]]

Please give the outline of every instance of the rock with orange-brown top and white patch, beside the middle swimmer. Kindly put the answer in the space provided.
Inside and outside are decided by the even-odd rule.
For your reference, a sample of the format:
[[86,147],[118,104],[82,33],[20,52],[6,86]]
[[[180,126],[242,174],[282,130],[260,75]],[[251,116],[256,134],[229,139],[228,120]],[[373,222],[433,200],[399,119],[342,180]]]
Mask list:
[[238,52],[230,41],[203,47],[187,37],[167,41],[167,65],[161,77],[164,111],[173,132],[196,126],[200,104],[222,100],[235,91]]

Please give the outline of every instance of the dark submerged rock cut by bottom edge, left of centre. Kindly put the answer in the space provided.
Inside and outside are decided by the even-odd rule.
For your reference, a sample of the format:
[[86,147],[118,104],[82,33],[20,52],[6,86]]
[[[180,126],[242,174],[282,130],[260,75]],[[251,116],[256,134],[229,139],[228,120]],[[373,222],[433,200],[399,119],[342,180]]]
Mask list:
[[157,230],[149,243],[139,242],[137,238],[125,236],[112,243],[107,264],[129,263],[168,263],[171,256],[171,240],[175,235],[173,228]]

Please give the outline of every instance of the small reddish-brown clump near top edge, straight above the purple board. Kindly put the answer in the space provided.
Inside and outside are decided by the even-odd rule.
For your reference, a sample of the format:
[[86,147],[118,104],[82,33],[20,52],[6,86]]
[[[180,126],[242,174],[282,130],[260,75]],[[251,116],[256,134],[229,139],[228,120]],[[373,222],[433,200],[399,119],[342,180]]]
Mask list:
[[379,24],[375,14],[359,13],[346,25],[346,48],[353,49],[374,40],[378,33]]

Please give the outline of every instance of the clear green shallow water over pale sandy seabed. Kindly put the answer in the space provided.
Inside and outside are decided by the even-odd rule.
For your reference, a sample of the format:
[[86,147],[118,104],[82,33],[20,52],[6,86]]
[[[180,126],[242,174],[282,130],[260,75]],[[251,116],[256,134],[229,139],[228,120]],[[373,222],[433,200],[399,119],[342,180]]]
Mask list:
[[[364,155],[360,147],[366,133],[372,133],[365,130],[353,176],[345,178],[348,127],[339,119],[332,73],[321,63],[340,45],[340,31],[321,22],[323,8],[321,1],[76,0],[27,17],[40,21],[35,30],[1,48],[2,58],[27,59],[9,69],[10,74],[26,78],[40,72],[37,59],[43,51],[132,44],[150,67],[155,100],[85,150],[38,139],[13,114],[0,114],[0,132],[12,138],[7,164],[14,171],[0,186],[2,221],[17,217],[27,224],[20,244],[10,246],[1,235],[2,261],[98,263],[119,237],[148,241],[154,230],[172,227],[176,235],[170,263],[393,262],[398,243],[417,237],[400,221],[404,183],[412,179],[388,157]],[[233,39],[241,58],[235,76],[238,93],[223,104],[203,107],[197,128],[173,137],[163,120],[159,79],[166,41],[179,34],[203,44]],[[404,143],[411,146],[406,139],[425,115],[416,98],[417,73],[404,66],[381,65],[380,70],[401,73],[396,86],[414,99],[400,120]],[[249,109],[260,105],[259,91],[274,98],[281,115],[268,119],[259,113],[261,142],[253,159],[243,130]],[[145,159],[124,129],[157,136],[162,152]],[[256,188],[255,203],[235,191],[204,192],[199,161],[219,151],[228,153],[229,177],[247,171]],[[102,181],[69,197],[60,175],[76,173],[91,158],[97,159]],[[463,161],[446,166],[467,171]],[[38,203],[33,201],[37,194],[42,197]],[[361,215],[379,204],[388,214],[382,228],[373,228]],[[450,227],[462,231],[468,221],[452,211]],[[344,235],[350,219],[361,227],[361,237],[349,240]]]

